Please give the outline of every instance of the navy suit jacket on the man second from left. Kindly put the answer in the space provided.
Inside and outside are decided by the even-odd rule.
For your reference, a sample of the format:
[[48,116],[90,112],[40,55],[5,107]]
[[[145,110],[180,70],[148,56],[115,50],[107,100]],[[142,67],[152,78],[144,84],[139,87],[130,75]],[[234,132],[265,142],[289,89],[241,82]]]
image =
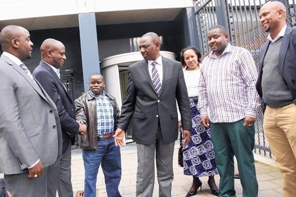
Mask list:
[[71,143],[71,138],[74,138],[79,130],[79,124],[75,121],[74,100],[58,75],[45,62],[40,61],[33,76],[57,106],[62,126],[63,152],[65,152]]

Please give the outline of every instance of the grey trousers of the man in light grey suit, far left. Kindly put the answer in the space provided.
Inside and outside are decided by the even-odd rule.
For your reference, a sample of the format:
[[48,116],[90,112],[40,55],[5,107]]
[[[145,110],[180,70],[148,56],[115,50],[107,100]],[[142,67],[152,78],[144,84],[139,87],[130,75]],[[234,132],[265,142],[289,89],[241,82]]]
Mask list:
[[13,197],[46,197],[47,169],[37,178],[28,178],[28,173],[4,174],[7,191]]

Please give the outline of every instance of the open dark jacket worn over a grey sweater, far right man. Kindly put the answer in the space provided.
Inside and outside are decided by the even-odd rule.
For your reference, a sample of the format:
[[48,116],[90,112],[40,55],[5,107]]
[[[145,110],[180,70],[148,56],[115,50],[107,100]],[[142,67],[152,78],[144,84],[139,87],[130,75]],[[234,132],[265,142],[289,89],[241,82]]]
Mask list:
[[[262,67],[270,41],[266,41],[259,51],[259,76],[256,89],[262,98]],[[296,29],[287,26],[279,54],[279,69],[281,76],[288,85],[296,103]]]

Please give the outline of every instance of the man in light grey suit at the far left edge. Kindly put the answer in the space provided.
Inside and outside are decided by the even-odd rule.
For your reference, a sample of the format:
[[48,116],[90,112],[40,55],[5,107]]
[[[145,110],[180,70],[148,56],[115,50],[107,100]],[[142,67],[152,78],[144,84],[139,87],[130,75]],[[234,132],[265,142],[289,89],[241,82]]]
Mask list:
[[23,64],[30,33],[6,26],[0,44],[0,173],[13,197],[46,197],[47,168],[62,153],[58,112]]

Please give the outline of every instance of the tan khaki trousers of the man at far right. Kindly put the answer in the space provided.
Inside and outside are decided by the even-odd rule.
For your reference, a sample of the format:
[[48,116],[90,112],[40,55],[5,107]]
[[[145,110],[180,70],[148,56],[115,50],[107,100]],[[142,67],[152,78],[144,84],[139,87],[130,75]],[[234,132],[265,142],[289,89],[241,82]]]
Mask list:
[[276,165],[284,176],[284,197],[296,197],[296,104],[266,107],[263,129]]

